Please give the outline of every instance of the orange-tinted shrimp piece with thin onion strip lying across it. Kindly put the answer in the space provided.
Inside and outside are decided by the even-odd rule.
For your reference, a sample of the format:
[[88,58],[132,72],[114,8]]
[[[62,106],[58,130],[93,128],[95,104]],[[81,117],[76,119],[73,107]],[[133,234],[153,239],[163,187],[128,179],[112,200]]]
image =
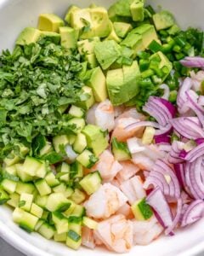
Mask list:
[[112,137],[116,137],[119,142],[126,142],[130,137],[142,137],[144,127],[139,126],[133,129],[132,131],[126,131],[125,128],[128,125],[132,125],[135,122],[139,122],[140,119],[133,119],[132,117],[129,118],[122,118],[118,119],[116,127],[112,133]]

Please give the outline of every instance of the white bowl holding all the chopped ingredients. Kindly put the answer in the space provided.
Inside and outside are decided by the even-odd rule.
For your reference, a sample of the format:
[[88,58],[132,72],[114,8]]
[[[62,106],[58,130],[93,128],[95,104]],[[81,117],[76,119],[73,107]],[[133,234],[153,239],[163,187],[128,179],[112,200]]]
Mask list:
[[[25,26],[36,26],[37,16],[43,12],[54,12],[57,15],[65,15],[67,7],[74,3],[85,7],[91,0],[0,0],[0,49],[11,49],[18,33]],[[109,6],[114,1],[94,0],[95,3]],[[185,27],[195,26],[204,28],[203,9],[204,1],[201,0],[150,0],[154,7],[159,4],[164,9],[173,12],[178,24]],[[94,256],[115,254],[99,248],[94,251],[82,247],[75,252],[65,245],[48,241],[35,233],[28,235],[15,225],[11,218],[11,210],[8,207],[0,207],[0,236],[22,253],[32,256],[64,256],[71,253],[72,256]],[[192,225],[190,228],[178,231],[176,236],[161,237],[146,247],[133,247],[128,253],[143,256],[174,256],[195,255],[204,251],[204,219]],[[0,249],[1,255],[1,249]],[[9,255],[8,255],[9,256]]]

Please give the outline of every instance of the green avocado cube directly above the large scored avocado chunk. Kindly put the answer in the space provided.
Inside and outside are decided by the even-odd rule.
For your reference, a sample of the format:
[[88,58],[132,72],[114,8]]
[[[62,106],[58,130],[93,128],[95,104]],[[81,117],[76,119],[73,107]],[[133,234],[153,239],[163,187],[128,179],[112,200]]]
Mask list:
[[121,47],[116,41],[108,40],[95,44],[94,52],[100,66],[105,70],[121,55]]

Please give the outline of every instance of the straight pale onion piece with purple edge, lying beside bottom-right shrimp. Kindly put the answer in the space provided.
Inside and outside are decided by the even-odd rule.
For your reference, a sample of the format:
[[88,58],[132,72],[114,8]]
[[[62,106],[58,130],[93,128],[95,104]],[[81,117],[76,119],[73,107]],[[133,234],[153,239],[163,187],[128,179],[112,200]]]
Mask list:
[[161,189],[154,189],[150,195],[147,196],[146,201],[157,213],[159,217],[158,221],[161,225],[165,228],[171,227],[173,224],[172,212]]

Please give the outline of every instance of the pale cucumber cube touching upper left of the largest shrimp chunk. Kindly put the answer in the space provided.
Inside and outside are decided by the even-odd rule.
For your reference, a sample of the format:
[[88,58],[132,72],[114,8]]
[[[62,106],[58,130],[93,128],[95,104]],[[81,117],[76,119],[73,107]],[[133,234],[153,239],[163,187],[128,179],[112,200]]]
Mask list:
[[97,191],[101,185],[102,179],[98,171],[89,173],[87,176],[83,177],[80,181],[82,189],[86,191],[88,195],[92,195]]

